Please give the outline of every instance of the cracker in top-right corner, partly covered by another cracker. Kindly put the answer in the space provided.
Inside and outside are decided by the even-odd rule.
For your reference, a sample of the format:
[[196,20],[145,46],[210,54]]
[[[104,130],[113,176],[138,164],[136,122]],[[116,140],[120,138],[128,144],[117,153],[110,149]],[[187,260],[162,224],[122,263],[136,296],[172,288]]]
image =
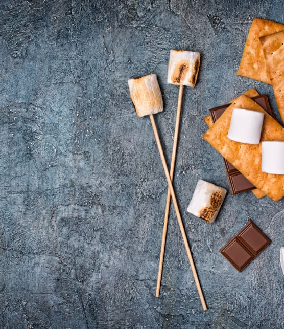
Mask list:
[[266,70],[265,58],[259,38],[283,30],[284,24],[267,19],[254,18],[246,40],[239,70],[236,74],[270,84],[270,77]]

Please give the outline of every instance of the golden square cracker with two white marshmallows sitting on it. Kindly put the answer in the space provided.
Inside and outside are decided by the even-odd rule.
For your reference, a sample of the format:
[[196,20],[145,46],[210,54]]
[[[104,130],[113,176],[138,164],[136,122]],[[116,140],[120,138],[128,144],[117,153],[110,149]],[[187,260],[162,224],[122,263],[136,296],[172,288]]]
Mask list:
[[261,141],[284,141],[284,128],[264,109],[245,95],[238,97],[206,131],[203,138],[238,169],[255,187],[274,201],[284,196],[284,175],[262,172],[262,144],[244,144],[227,137],[233,108],[264,113]]

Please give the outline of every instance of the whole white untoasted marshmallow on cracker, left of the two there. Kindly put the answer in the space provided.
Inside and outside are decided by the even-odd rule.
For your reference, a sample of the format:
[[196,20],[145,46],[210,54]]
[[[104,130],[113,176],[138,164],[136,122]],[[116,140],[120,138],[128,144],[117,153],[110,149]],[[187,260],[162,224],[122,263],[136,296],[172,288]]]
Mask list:
[[261,140],[264,114],[243,108],[234,108],[228,138],[235,142],[258,144]]

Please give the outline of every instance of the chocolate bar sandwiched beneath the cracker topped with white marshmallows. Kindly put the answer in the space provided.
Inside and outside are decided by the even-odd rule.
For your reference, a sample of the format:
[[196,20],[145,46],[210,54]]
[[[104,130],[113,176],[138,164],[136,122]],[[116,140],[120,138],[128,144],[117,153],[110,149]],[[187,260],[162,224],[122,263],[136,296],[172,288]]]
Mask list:
[[[272,117],[274,117],[273,113],[271,111],[270,105],[269,105],[267,95],[259,95],[256,97],[252,97],[252,99],[257,104],[261,105],[262,108],[265,109],[265,111],[267,113],[269,113]],[[221,115],[225,112],[226,108],[229,105],[230,104],[226,104],[226,105],[222,105],[222,106],[218,106],[218,107],[209,109],[211,117],[212,117],[212,121],[213,122],[217,121],[219,119],[219,117],[221,117]],[[228,181],[230,184],[231,195],[236,194],[236,193],[245,192],[245,191],[250,191],[255,188],[255,186],[250,181],[248,181],[243,176],[243,174],[238,169],[236,169],[229,161],[224,159],[224,162],[225,162],[225,168],[226,168],[226,172],[227,172]]]

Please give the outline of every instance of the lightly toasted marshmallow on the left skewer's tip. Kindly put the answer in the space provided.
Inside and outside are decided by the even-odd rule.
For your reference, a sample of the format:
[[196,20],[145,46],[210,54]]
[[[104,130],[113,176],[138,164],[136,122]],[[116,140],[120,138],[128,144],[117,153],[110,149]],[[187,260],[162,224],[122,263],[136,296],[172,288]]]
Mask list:
[[163,100],[156,74],[129,79],[130,97],[139,118],[163,111]]

